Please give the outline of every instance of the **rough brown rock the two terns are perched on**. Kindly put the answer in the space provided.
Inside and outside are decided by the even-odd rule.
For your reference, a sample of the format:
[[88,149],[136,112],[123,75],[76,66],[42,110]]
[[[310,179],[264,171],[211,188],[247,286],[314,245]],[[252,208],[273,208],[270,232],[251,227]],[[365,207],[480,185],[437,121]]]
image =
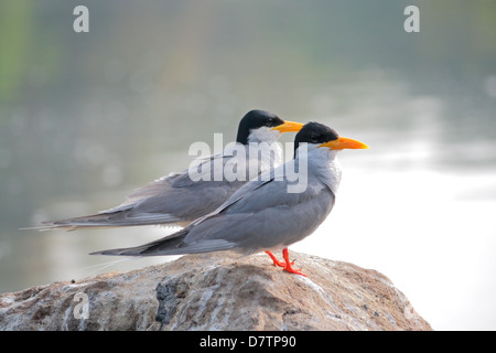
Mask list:
[[3,293],[0,330],[432,330],[384,275],[290,255],[309,277],[216,253]]

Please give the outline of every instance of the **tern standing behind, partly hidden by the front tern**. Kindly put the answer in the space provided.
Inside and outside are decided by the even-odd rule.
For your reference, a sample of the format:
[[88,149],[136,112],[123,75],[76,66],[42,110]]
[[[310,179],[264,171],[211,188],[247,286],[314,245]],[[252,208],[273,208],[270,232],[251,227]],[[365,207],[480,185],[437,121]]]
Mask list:
[[[203,159],[191,178],[191,168],[171,173],[127,196],[122,204],[97,214],[44,222],[41,229],[121,227],[137,225],[186,225],[220,206],[236,190],[259,173],[281,164],[282,151],[277,142],[282,132],[299,131],[303,124],[284,121],[265,110],[250,110],[239,122],[234,146],[226,146],[223,153]],[[266,142],[266,143],[261,143]],[[257,146],[257,153],[250,148]],[[216,176],[216,169],[239,168],[228,179]],[[217,171],[218,172],[218,171]],[[222,172],[222,170],[220,170]],[[217,174],[218,175],[218,174]]]

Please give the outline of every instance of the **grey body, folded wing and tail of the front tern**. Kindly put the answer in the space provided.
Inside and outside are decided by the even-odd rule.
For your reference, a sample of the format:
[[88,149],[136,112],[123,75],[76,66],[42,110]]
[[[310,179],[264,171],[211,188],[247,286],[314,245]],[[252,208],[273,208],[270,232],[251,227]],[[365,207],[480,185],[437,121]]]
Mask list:
[[155,242],[96,254],[153,256],[236,249],[245,254],[289,246],[313,233],[334,205],[322,183],[285,192],[287,181],[251,181],[212,214]]

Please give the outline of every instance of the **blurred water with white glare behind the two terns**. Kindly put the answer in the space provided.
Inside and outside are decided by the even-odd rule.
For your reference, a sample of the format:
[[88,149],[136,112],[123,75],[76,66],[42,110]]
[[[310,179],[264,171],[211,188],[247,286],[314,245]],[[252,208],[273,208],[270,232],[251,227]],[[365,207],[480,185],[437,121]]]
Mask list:
[[2,0],[0,292],[170,260],[87,255],[170,229],[19,228],[115,206],[259,108],[371,147],[291,249],[384,272],[436,330],[495,330],[495,33],[484,0]]

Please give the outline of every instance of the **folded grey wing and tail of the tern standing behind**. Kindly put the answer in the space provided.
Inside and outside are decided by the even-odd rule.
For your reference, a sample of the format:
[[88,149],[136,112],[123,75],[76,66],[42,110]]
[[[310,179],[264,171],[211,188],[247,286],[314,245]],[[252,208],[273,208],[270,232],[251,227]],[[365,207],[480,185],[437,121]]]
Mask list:
[[[226,157],[217,157],[226,160]],[[215,158],[204,163],[213,173]],[[208,171],[208,173],[211,173]],[[213,176],[213,174],[212,174]],[[150,224],[188,223],[215,211],[246,181],[215,181],[213,178],[193,181],[188,170],[173,173],[140,188],[117,207],[98,214],[45,223],[45,228],[114,227]]]

